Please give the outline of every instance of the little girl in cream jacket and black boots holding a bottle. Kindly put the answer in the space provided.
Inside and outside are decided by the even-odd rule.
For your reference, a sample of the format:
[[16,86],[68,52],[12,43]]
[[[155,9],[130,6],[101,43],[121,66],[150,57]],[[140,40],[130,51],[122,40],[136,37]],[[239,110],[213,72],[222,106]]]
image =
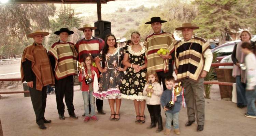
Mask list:
[[147,129],[156,127],[158,122],[158,128],[156,132],[163,130],[160,97],[162,95],[161,85],[158,83],[158,77],[155,71],[148,71],[146,74],[147,83],[143,90],[143,95],[146,96],[146,104],[148,112],[150,113],[151,124]]

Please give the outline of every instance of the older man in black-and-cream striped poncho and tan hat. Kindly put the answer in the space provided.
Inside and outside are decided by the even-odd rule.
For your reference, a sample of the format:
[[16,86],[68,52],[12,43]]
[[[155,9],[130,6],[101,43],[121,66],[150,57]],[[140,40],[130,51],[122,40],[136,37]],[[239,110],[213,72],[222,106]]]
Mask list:
[[203,38],[193,36],[193,30],[199,27],[191,23],[183,23],[175,30],[182,31],[183,39],[175,44],[175,73],[177,81],[182,81],[185,88],[188,122],[190,126],[197,117],[197,131],[204,126],[204,77],[210,70],[212,52],[209,42]]

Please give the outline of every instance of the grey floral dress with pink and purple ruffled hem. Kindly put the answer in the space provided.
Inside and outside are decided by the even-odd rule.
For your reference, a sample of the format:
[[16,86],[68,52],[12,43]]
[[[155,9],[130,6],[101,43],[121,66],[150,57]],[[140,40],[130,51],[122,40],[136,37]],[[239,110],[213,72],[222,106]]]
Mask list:
[[[102,51],[99,54],[102,60]],[[124,58],[124,50],[117,48],[113,54],[107,53],[105,55],[104,63],[107,71],[100,74],[99,90],[93,92],[93,96],[97,99],[115,99],[121,98],[119,86],[124,77],[123,71],[118,71],[117,68],[121,66]]]

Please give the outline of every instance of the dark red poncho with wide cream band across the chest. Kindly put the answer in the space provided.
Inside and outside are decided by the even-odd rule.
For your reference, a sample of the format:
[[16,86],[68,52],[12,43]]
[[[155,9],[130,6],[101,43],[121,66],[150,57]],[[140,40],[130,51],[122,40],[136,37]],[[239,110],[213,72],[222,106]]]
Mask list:
[[96,58],[99,55],[100,51],[103,49],[104,44],[104,40],[97,37],[93,37],[89,40],[83,38],[77,41],[75,44],[75,49],[78,53],[78,61],[84,62],[84,55],[89,53],[91,54],[91,56],[93,56],[93,58]]

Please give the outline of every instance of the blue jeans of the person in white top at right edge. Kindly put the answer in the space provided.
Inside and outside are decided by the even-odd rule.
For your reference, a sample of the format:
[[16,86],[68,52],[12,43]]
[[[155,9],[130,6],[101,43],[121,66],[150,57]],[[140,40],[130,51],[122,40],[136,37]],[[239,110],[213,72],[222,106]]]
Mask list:
[[253,91],[246,91],[245,97],[247,99],[247,114],[256,116],[255,100],[256,100],[256,86]]

